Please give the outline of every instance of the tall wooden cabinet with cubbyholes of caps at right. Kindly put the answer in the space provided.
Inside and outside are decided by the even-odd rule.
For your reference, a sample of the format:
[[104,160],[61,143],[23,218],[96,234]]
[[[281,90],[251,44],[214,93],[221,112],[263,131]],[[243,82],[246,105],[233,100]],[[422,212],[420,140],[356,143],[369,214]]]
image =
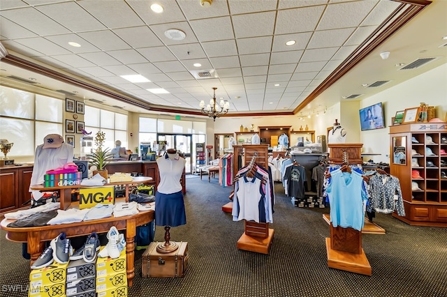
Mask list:
[[447,137],[447,123],[390,127],[390,174],[400,180],[405,207],[404,217],[393,216],[408,224],[447,227],[447,178],[441,177],[447,174],[441,163],[447,162],[441,151],[447,151],[447,143],[442,137]]

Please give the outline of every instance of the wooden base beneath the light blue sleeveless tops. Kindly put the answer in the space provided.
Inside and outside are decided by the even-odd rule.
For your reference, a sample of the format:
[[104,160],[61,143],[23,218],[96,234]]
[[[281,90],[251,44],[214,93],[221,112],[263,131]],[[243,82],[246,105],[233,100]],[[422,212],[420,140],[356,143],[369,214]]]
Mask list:
[[333,227],[326,238],[328,266],[371,276],[371,266],[362,249],[362,232],[352,228]]

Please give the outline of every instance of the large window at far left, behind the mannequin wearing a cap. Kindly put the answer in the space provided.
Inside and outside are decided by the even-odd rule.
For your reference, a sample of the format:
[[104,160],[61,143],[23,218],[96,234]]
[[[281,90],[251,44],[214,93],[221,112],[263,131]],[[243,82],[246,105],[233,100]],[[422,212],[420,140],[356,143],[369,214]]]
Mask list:
[[63,135],[64,100],[0,86],[0,139],[14,146],[8,156],[34,155],[48,134]]

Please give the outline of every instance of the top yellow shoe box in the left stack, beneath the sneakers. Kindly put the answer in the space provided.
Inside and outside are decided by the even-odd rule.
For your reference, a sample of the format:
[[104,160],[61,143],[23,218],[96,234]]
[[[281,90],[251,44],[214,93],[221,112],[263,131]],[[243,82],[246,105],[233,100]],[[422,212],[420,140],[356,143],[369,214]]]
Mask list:
[[50,266],[31,270],[29,273],[30,287],[50,286],[59,282],[65,284],[67,266],[68,263],[59,264],[54,261]]

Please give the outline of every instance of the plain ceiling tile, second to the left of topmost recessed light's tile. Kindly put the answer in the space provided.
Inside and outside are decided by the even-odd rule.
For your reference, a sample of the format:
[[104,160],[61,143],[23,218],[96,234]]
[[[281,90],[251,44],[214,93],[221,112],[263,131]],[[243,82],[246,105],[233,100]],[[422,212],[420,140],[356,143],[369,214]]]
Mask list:
[[[107,29],[95,17],[79,6],[78,3],[80,3],[80,1],[35,7],[73,32]],[[80,20],[82,20],[82,22],[80,22]]]

